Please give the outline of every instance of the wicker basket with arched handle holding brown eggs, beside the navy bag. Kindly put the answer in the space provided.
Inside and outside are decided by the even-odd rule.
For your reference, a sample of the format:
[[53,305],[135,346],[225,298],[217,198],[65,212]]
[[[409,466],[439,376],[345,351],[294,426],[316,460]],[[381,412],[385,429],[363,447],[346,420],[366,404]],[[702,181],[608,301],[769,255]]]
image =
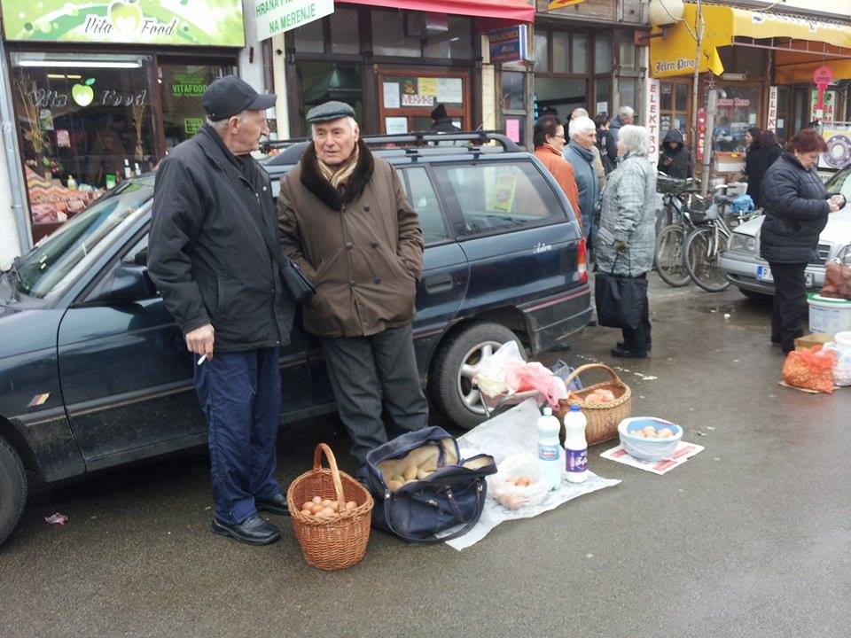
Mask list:
[[[321,467],[323,454],[330,470]],[[340,514],[330,519],[301,514],[301,504],[314,496],[336,500]],[[354,501],[357,507],[346,510],[347,501]],[[324,443],[316,446],[313,470],[293,480],[286,490],[286,502],[295,536],[309,564],[335,570],[361,561],[370,540],[372,497],[354,478],[337,469],[337,460],[330,447]]]

